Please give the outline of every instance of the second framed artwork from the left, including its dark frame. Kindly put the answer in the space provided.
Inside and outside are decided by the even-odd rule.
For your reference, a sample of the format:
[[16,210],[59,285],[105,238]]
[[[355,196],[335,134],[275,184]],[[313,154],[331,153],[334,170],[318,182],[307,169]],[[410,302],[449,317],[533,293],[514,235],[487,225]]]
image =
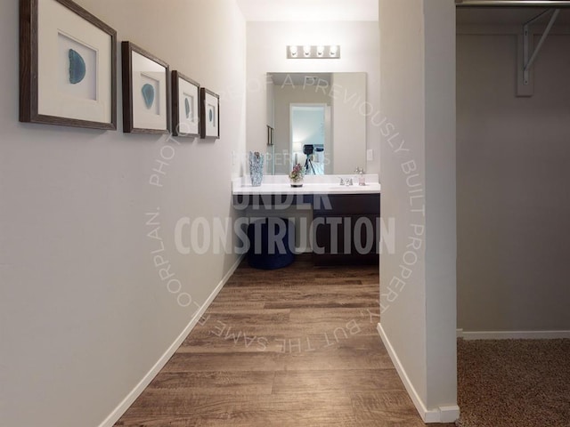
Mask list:
[[170,71],[168,64],[131,42],[121,43],[123,132],[168,133]]

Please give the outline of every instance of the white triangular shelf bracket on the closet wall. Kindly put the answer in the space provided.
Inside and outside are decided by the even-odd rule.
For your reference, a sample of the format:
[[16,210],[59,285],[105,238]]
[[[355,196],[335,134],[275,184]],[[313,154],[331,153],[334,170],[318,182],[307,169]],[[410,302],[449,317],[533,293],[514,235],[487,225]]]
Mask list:
[[[533,33],[531,31],[531,25],[537,20],[541,20],[542,17],[546,16],[547,14],[552,13],[550,16],[550,21],[544,32],[542,33],[541,39],[539,40],[538,44],[534,48],[531,54],[531,48],[533,44]],[[541,52],[542,45],[546,41],[547,37],[550,35],[550,30],[552,26],[558,19],[558,15],[560,14],[560,9],[550,9],[548,11],[542,12],[540,15],[535,16],[532,20],[529,20],[523,25],[523,36],[522,36],[522,60],[519,60],[521,64],[519,66],[519,85],[518,85],[518,96],[533,96],[533,75],[532,75],[532,67],[533,63],[538,57],[539,53]],[[522,77],[522,78],[521,78]],[[522,80],[522,82],[521,82]],[[522,86],[521,87],[521,83]]]

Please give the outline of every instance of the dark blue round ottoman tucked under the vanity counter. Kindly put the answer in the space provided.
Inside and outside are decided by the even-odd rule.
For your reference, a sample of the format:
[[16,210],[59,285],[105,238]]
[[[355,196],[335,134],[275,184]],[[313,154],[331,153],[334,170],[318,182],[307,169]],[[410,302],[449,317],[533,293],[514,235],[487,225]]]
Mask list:
[[287,267],[295,261],[295,224],[284,218],[264,218],[248,225],[248,263],[261,270]]

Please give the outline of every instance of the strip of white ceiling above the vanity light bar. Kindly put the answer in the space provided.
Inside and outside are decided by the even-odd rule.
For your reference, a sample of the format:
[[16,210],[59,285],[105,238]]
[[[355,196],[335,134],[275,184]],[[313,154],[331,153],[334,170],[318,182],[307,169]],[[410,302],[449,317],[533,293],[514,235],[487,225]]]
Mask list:
[[238,0],[248,21],[377,21],[378,3],[378,0]]

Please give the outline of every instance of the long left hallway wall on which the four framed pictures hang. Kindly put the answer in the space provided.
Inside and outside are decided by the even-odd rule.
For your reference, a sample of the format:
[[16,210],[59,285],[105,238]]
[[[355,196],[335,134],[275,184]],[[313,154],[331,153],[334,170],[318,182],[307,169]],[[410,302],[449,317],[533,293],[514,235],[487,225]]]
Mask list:
[[[245,150],[246,28],[233,1],[77,0],[130,40],[220,93],[221,139],[171,143],[149,184],[157,136],[18,122],[18,2],[0,16],[0,424],[94,427],[191,322],[181,293],[206,301],[234,254],[181,255],[183,217],[231,217],[231,150]],[[204,42],[204,34],[213,37]],[[119,51],[120,52],[120,51]],[[120,66],[119,66],[120,93]],[[171,151],[163,151],[167,155]],[[183,284],[159,278],[162,256]],[[187,231],[187,230],[186,230]],[[231,233],[230,233],[231,234]],[[185,240],[190,240],[184,235]],[[176,291],[176,289],[174,289]],[[111,420],[112,421],[112,420]]]

